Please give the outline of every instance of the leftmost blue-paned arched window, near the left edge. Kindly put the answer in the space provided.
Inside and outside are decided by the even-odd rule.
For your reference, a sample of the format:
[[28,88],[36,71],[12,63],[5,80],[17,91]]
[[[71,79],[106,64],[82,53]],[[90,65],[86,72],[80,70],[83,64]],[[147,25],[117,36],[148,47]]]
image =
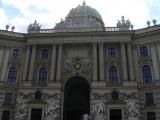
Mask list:
[[9,68],[7,84],[15,84],[17,78],[17,69],[15,67]]

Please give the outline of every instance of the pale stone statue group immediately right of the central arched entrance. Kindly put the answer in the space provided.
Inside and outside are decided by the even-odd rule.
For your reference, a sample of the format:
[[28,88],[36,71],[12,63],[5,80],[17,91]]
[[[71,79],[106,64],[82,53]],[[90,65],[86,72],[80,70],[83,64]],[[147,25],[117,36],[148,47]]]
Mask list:
[[93,120],[104,120],[104,105],[103,100],[97,100],[92,110]]

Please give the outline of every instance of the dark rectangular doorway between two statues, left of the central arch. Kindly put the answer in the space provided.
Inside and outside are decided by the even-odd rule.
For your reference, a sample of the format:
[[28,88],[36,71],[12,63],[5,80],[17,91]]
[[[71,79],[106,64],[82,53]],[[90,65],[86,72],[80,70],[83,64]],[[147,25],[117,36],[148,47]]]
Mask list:
[[31,120],[42,120],[42,109],[41,108],[32,108]]

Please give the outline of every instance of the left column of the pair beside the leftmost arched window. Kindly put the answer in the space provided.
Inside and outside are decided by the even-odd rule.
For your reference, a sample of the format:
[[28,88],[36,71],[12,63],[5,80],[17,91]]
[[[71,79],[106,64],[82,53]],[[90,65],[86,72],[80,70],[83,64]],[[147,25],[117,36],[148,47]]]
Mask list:
[[25,52],[25,60],[24,60],[24,69],[23,69],[22,80],[27,79],[27,72],[28,72],[28,66],[29,66],[29,56],[30,56],[30,46],[27,46],[26,52]]

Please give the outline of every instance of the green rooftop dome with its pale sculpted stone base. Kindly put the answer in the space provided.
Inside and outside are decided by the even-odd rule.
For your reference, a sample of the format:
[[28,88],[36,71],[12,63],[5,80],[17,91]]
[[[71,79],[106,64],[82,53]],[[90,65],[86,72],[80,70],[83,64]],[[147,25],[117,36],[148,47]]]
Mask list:
[[61,20],[55,28],[78,27],[104,27],[104,23],[99,12],[83,2],[82,5],[71,9],[65,20]]

